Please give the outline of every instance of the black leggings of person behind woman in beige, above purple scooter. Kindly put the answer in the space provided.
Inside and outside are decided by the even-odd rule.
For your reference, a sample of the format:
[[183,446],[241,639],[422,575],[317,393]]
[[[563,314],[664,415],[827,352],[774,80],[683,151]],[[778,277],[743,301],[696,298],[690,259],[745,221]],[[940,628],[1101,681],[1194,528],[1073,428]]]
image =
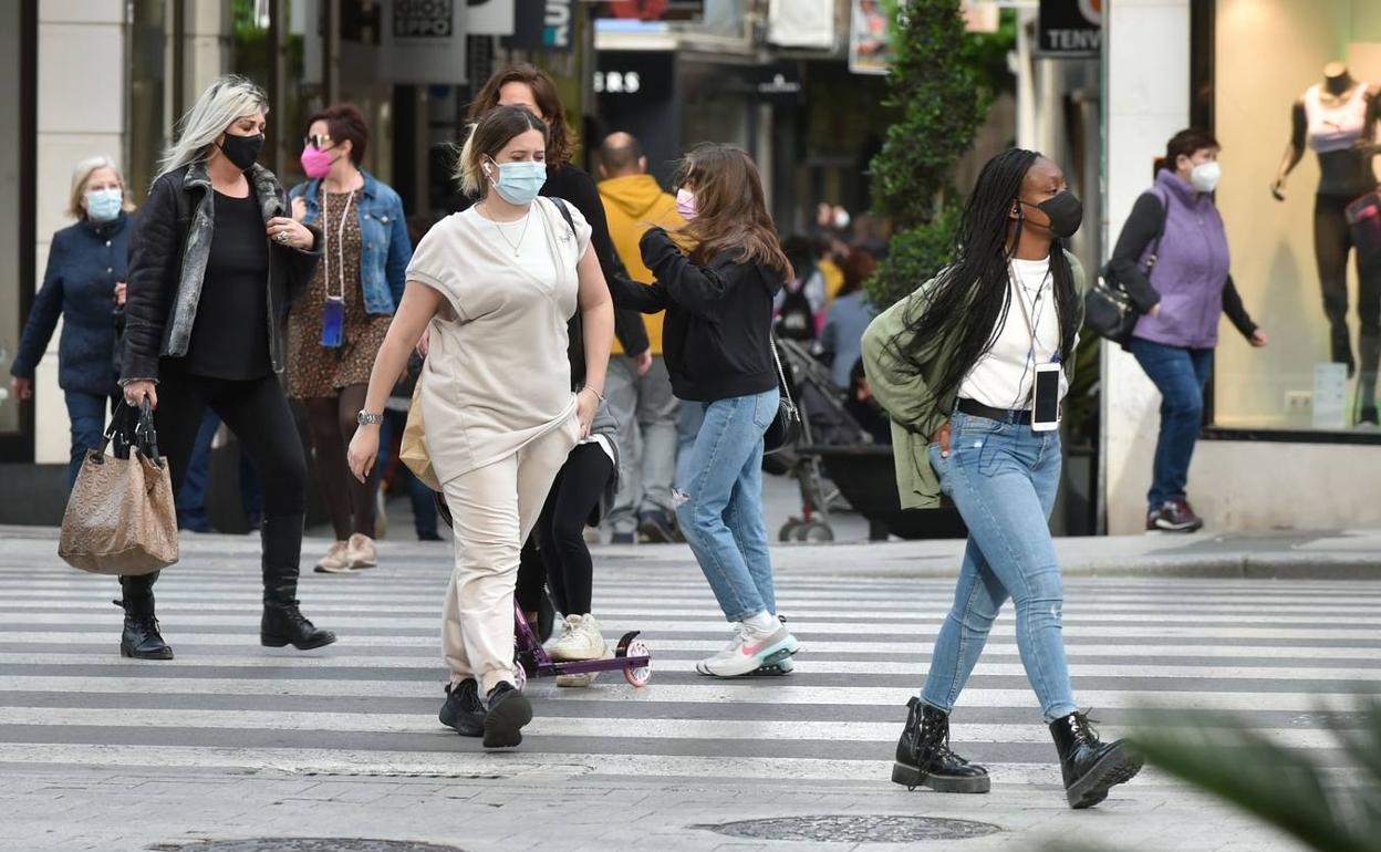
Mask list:
[[543,579],[562,614],[590,613],[594,563],[586,544],[586,525],[598,514],[613,460],[598,443],[581,443],[551,485],[537,529],[522,551],[518,568],[518,603],[536,612]]

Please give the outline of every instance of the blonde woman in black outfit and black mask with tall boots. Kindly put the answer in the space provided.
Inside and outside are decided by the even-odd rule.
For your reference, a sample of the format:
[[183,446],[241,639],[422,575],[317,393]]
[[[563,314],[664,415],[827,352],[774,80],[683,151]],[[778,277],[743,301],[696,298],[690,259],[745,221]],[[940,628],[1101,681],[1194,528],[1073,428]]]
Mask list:
[[[255,160],[268,97],[225,76],[182,119],[149,189],[130,257],[120,384],[155,406],[159,449],[178,493],[202,416],[214,410],[264,490],[260,642],[300,650],[336,641],[297,602],[307,460],[278,374],[283,325],[320,257],[320,232],[289,215],[287,195]],[[157,574],[120,577],[124,656],[167,660],[153,616]]]

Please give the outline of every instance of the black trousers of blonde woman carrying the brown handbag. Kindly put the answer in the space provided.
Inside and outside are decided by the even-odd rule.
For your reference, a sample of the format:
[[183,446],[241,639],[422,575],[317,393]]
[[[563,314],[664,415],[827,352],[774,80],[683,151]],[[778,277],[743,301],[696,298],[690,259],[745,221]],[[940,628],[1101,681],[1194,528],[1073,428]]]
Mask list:
[[[307,458],[283,385],[273,374],[247,381],[189,376],[164,362],[159,407],[153,412],[159,453],[167,458],[174,498],[182,490],[202,417],[210,407],[240,442],[264,493],[265,584],[269,572],[297,577],[307,514]],[[293,530],[296,529],[296,534]],[[126,594],[138,595],[157,574],[124,577]],[[146,583],[145,583],[146,580]]]

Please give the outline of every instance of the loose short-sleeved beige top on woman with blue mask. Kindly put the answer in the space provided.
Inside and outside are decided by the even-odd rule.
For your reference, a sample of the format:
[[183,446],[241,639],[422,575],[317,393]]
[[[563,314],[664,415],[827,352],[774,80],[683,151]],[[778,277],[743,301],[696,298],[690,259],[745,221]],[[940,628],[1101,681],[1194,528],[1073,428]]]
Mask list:
[[537,199],[526,233],[521,221],[496,224],[471,207],[432,226],[413,253],[407,280],[446,297],[431,322],[420,391],[442,483],[507,458],[576,410],[566,322],[590,225],[566,210],[574,239],[555,202]]

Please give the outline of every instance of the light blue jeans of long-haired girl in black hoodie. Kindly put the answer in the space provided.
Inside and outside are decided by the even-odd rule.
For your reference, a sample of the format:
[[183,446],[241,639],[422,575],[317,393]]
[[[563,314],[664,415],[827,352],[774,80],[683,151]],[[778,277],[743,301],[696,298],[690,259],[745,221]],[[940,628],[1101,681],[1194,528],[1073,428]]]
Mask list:
[[776,416],[776,388],[751,396],[688,403],[704,423],[685,458],[677,507],[681,532],[729,621],[776,614],[772,555],[762,521],[762,434]]

